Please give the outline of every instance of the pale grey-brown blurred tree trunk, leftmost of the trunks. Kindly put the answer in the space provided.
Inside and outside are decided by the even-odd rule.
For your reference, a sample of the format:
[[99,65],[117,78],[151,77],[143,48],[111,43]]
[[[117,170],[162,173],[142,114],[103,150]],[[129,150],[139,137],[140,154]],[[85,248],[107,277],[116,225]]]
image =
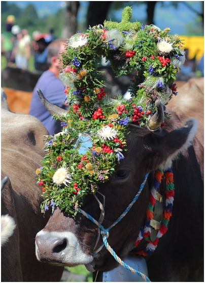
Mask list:
[[77,13],[79,1],[66,1],[64,26],[61,33],[62,39],[68,39],[77,32]]

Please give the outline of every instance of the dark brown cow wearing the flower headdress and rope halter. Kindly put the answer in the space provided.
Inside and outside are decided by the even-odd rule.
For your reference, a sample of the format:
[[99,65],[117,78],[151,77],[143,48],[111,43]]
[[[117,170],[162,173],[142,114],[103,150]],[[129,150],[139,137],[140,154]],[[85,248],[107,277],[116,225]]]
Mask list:
[[[105,196],[101,225],[110,228],[132,202],[149,173],[138,200],[109,230],[108,243],[124,260],[130,252],[138,252],[138,246],[132,247],[146,218],[155,171],[159,167],[172,167],[173,213],[167,232],[146,258],[151,281],[203,281],[203,94],[194,81],[187,82],[183,88],[183,97],[182,94],[175,97],[175,104],[170,104],[168,112],[172,119],[165,120],[162,131],[130,124],[125,158],[109,180],[98,185],[100,194],[96,193],[101,203],[101,194]],[[49,105],[47,101],[43,103]],[[114,269],[118,262],[105,245],[95,252],[103,240],[98,239],[98,226],[91,220],[92,217],[98,221],[101,212],[92,194],[85,197],[81,212],[74,217],[58,207],[54,210],[36,236],[38,260],[70,267],[91,264],[98,272]]]

